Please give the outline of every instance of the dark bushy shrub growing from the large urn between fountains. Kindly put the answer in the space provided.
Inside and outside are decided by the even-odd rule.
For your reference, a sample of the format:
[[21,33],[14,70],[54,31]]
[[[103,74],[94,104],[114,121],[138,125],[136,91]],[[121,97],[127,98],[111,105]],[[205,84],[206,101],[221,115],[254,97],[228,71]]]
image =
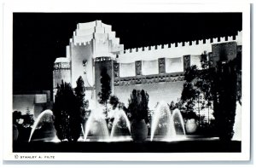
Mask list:
[[148,123],[148,93],[144,90],[132,90],[127,108],[132,119],[144,119]]

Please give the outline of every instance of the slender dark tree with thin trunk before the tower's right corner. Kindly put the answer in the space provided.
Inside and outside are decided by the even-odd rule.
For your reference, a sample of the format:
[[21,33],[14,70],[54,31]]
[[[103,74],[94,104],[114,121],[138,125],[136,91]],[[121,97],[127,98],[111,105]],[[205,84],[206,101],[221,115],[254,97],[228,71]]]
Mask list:
[[103,67],[101,70],[101,87],[102,91],[98,93],[99,103],[105,106],[105,115],[106,119],[108,119],[108,100],[111,95],[111,86],[110,86],[111,78],[108,75],[107,68]]

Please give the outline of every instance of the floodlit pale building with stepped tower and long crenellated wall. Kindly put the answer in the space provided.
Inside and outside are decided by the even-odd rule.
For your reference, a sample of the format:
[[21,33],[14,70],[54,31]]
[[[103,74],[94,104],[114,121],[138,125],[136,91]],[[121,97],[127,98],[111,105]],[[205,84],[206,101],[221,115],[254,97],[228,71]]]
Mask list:
[[101,20],[79,23],[67,45],[66,57],[55,61],[54,93],[61,80],[75,88],[77,79],[82,76],[85,99],[96,102],[101,91],[102,68],[106,68],[111,77],[112,94],[118,96],[119,101],[127,104],[133,89],[146,90],[149,108],[153,108],[158,101],[177,101],[183,90],[186,68],[191,65],[201,68],[204,51],[209,53],[212,66],[216,66],[220,49],[224,49],[228,60],[234,59],[241,52],[241,32],[236,37],[124,49],[112,26]]

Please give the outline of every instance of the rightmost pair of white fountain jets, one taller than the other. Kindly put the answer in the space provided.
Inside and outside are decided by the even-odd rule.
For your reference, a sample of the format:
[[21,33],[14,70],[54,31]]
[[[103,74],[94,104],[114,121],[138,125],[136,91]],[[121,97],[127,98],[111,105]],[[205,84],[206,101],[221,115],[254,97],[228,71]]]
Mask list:
[[[178,123],[179,121],[179,123]],[[177,135],[177,124],[181,125],[182,136]],[[183,117],[178,109],[172,113],[165,102],[160,102],[152,116],[150,140],[173,141],[185,136]]]

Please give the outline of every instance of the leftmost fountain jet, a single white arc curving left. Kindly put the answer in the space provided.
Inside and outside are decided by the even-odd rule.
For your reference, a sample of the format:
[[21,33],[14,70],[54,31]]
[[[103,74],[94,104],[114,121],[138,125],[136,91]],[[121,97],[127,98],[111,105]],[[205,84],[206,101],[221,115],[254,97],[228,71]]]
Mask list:
[[[47,123],[50,125],[50,130],[47,130],[47,132],[44,132],[46,134],[48,134],[48,136],[50,136],[49,138],[50,139],[54,139],[55,136],[51,137],[52,134],[55,134],[55,129],[54,129],[54,126],[53,126],[53,113],[51,110],[45,110],[44,112],[40,113],[38,115],[38,118],[36,119],[35,123],[32,125],[32,131],[31,131],[31,134],[29,136],[29,140],[28,142],[31,142],[32,140],[32,136],[34,135],[36,129],[38,128],[39,125],[41,125],[43,122],[44,124]],[[44,135],[45,137],[45,135]]]

